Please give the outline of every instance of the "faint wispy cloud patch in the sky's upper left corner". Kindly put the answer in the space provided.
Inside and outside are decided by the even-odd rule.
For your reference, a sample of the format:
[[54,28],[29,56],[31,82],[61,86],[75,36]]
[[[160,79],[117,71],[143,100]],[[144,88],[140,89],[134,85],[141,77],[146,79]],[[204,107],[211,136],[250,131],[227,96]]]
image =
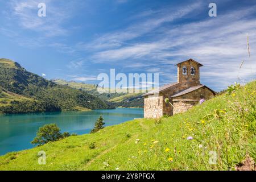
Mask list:
[[[46,17],[38,16],[39,3],[46,4]],[[61,23],[69,17],[65,7],[51,6],[52,0],[11,0],[10,14],[12,19],[16,19],[18,25],[26,30],[43,32],[44,36],[67,35],[68,30],[61,26]],[[66,9],[67,10],[67,9]]]

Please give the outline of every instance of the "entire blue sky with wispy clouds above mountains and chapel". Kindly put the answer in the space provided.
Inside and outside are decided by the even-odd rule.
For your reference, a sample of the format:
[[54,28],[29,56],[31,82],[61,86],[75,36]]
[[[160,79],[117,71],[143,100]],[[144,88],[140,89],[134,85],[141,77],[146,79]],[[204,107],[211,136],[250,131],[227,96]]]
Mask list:
[[[217,17],[208,15],[210,2]],[[97,83],[115,68],[159,73],[162,85],[189,58],[204,64],[201,82],[217,91],[256,76],[255,0],[1,0],[0,9],[0,57],[48,79]]]

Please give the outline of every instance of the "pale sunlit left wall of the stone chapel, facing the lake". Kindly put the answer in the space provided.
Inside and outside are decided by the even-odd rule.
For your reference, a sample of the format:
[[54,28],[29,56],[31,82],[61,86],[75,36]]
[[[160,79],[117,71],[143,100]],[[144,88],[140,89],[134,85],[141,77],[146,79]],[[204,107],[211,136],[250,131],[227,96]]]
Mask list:
[[160,118],[163,116],[163,96],[150,95],[144,98],[144,118]]

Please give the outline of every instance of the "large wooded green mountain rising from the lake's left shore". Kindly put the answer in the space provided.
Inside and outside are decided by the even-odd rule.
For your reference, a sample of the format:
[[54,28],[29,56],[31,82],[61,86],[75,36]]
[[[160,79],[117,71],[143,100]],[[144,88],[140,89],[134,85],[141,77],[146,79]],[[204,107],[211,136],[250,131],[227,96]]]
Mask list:
[[0,87],[0,113],[114,108],[110,102],[48,81],[8,59],[0,59]]

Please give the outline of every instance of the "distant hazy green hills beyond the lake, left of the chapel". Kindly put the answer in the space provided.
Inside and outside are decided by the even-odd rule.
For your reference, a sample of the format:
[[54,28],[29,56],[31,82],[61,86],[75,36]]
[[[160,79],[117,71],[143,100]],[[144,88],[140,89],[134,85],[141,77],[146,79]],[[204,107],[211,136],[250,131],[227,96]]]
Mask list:
[[113,102],[115,107],[143,107],[144,105],[142,93],[99,93],[97,91],[97,85],[65,81],[61,79],[52,81],[59,85],[66,85],[75,89],[84,90],[102,100]]

